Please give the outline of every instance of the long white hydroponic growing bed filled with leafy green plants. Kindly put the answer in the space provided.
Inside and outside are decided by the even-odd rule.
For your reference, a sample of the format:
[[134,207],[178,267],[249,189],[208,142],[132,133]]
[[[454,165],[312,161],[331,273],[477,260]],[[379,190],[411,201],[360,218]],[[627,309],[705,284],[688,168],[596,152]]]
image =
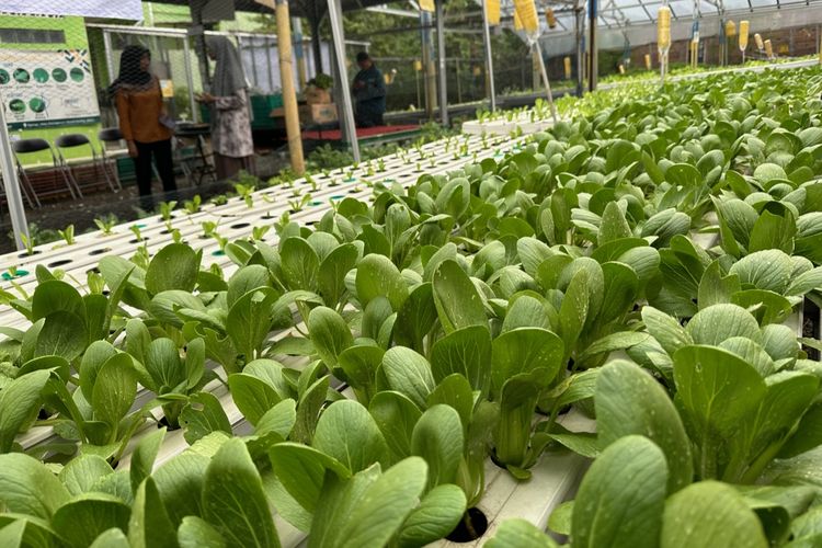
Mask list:
[[818,546],[820,93],[629,87],[9,258],[0,545]]

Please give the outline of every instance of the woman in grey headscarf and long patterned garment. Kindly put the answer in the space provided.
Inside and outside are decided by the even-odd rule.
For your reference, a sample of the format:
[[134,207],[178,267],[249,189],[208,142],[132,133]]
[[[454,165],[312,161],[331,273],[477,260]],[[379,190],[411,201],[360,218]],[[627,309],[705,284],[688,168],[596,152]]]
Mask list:
[[212,92],[198,101],[212,107],[212,148],[217,178],[232,179],[244,170],[254,172],[249,84],[237,48],[225,36],[206,38],[208,57],[217,61]]

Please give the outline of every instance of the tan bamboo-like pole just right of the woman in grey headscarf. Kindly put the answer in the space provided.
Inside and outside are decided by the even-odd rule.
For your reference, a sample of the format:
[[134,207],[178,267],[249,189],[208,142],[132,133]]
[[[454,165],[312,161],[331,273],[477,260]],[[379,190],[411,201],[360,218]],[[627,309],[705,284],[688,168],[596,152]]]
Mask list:
[[288,1],[276,0],[277,50],[279,52],[279,73],[283,84],[283,107],[285,111],[285,132],[288,138],[288,152],[292,157],[292,169],[297,174],[306,171],[302,158],[302,134],[299,129],[297,113],[297,92],[294,89],[294,67],[292,67],[292,26],[288,19]]

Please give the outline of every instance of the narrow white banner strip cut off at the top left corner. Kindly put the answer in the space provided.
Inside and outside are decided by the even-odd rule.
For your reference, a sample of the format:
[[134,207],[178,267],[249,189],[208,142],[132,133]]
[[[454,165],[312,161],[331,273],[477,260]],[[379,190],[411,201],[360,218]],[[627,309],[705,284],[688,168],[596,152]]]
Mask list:
[[0,12],[141,21],[142,2],[140,0],[2,0]]

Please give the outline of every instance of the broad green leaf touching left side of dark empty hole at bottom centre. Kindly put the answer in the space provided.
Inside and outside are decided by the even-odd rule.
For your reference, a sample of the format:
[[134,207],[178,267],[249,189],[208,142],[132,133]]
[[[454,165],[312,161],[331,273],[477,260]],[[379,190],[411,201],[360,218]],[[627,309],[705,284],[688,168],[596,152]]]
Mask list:
[[454,530],[466,511],[465,493],[457,486],[444,484],[432,489],[402,524],[398,546],[425,546]]

